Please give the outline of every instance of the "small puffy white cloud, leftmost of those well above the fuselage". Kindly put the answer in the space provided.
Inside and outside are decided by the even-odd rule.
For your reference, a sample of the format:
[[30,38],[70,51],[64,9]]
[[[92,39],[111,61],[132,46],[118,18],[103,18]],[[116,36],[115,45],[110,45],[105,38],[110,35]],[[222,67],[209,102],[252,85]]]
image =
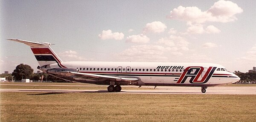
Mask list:
[[122,40],[124,38],[124,34],[121,32],[114,32],[112,33],[111,30],[103,30],[101,34],[99,34],[99,37],[102,40],[106,40],[106,39],[115,39],[115,40]]

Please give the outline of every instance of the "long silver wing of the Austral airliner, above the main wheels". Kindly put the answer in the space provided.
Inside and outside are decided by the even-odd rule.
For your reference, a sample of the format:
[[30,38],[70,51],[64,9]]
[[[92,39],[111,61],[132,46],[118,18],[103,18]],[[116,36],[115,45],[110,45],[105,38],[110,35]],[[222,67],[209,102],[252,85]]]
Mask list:
[[139,78],[136,77],[121,77],[116,75],[98,75],[90,73],[77,73],[77,72],[67,72],[69,75],[78,76],[84,79],[90,78],[94,80],[110,80],[110,81],[120,81],[120,82],[136,82],[139,81]]

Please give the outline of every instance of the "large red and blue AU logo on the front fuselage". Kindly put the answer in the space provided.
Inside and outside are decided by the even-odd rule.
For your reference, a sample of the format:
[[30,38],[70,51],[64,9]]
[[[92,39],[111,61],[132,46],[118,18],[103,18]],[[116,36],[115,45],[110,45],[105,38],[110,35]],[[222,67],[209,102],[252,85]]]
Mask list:
[[[206,71],[206,73],[203,76],[204,67],[186,67],[185,71],[181,74],[179,80],[177,81],[177,84],[181,83],[183,84],[187,78],[190,77],[189,82],[191,84],[204,84],[209,81],[211,78],[213,72],[215,71],[217,67],[209,67]],[[202,77],[201,80],[198,80],[198,78]]]

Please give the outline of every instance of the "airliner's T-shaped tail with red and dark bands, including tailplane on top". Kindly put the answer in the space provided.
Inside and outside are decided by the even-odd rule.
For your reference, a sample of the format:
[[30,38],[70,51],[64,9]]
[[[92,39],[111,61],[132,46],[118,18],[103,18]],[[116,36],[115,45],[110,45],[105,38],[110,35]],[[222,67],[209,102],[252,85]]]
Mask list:
[[51,49],[50,43],[47,43],[47,42],[38,43],[38,42],[25,41],[25,40],[20,40],[20,39],[7,39],[7,40],[17,41],[17,42],[24,43],[24,44],[30,46],[40,67],[47,65],[47,64],[54,64],[54,63],[58,63],[59,67],[64,67],[61,64],[61,62],[63,62],[63,61]]

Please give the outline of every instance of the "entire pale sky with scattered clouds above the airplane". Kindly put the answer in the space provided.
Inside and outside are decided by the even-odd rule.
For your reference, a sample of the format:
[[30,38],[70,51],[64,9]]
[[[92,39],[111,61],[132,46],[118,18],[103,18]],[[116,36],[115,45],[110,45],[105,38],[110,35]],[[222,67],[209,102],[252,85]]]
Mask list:
[[25,44],[63,61],[204,62],[256,67],[256,0],[1,0],[0,73],[37,71]]

